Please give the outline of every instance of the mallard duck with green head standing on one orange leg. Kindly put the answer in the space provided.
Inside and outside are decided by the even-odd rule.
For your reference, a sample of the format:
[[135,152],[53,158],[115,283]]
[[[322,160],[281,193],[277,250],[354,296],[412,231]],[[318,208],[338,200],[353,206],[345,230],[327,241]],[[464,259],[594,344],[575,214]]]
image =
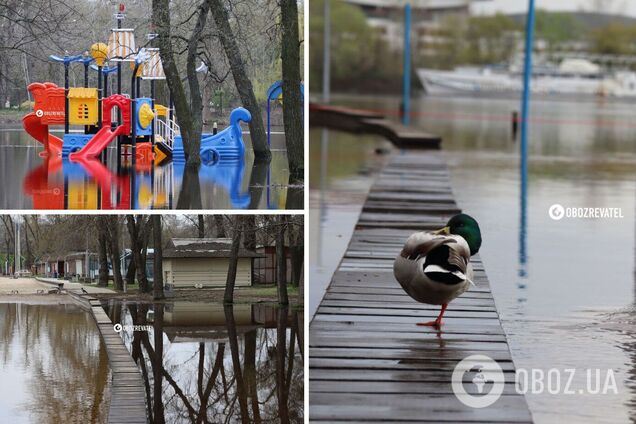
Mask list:
[[439,328],[448,304],[474,285],[470,257],[481,247],[477,221],[453,216],[438,231],[412,234],[393,263],[393,274],[404,291],[418,302],[441,305],[435,321],[417,325]]

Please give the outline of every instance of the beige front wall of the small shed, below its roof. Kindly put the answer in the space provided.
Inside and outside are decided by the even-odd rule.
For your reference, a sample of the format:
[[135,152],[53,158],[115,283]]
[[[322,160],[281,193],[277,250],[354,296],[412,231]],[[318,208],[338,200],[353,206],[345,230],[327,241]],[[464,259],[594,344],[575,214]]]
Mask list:
[[[252,285],[252,260],[239,258],[236,287]],[[227,258],[167,258],[163,260],[164,284],[174,287],[225,287]]]

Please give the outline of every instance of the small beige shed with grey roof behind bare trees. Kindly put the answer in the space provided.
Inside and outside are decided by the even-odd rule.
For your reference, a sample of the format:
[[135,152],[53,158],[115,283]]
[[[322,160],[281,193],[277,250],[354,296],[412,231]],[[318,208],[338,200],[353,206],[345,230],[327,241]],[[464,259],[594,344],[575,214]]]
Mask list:
[[[164,285],[179,287],[225,287],[232,240],[229,238],[173,238],[163,251]],[[236,287],[251,286],[253,250],[239,249]]]

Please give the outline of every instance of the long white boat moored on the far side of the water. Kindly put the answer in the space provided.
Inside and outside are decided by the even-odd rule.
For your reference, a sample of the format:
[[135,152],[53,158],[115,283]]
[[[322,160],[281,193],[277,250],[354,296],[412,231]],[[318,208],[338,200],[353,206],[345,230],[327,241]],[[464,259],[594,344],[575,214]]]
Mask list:
[[[428,94],[518,96],[523,73],[517,67],[461,67],[452,71],[420,68],[418,77]],[[583,59],[567,59],[557,66],[535,67],[530,84],[533,95],[554,98],[615,97],[636,99],[636,74],[604,73]]]

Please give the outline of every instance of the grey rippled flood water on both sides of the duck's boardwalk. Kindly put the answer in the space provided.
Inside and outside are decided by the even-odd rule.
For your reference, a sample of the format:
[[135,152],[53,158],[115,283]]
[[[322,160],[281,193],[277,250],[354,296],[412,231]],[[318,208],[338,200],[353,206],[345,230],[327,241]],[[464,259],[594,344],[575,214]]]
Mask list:
[[[341,97],[337,103],[396,111],[398,99]],[[573,387],[586,387],[586,371],[613,370],[618,394],[527,394],[537,423],[636,422],[635,196],[636,124],[630,105],[533,102],[528,190],[522,193],[519,142],[511,137],[515,100],[423,97],[414,125],[443,137],[459,206],[480,223],[485,264],[497,309],[518,368],[576,369]],[[312,165],[320,159],[321,130],[312,130]],[[328,132],[330,160],[351,135]],[[358,146],[351,166],[327,172],[312,166],[311,273],[330,277],[357,219],[355,210],[371,177],[360,172],[377,160],[375,139]],[[361,159],[363,157],[364,159]],[[338,196],[356,187],[358,196]],[[337,197],[339,201],[319,202]],[[343,208],[343,203],[347,206]],[[621,208],[619,219],[552,220],[548,208]],[[523,205],[523,207],[522,207]],[[316,219],[320,216],[320,220]],[[523,219],[522,219],[523,218]],[[340,236],[339,236],[340,235]],[[333,253],[335,245],[341,251]],[[320,267],[314,257],[322,258]],[[314,285],[311,298],[322,296]],[[310,305],[310,316],[316,302]],[[450,306],[452,308],[452,304]],[[595,372],[595,371],[593,371]],[[565,374],[564,377],[565,378]],[[594,384],[594,381],[592,381]]]

